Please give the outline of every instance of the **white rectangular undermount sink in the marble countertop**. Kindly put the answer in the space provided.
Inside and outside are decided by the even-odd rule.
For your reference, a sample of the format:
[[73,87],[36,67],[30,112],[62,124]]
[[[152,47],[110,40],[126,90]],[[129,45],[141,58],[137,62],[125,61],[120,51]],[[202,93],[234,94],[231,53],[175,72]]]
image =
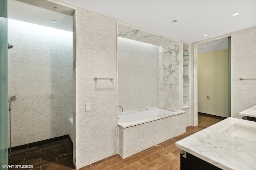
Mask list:
[[253,126],[242,123],[232,123],[222,128],[220,132],[256,142],[256,127]]

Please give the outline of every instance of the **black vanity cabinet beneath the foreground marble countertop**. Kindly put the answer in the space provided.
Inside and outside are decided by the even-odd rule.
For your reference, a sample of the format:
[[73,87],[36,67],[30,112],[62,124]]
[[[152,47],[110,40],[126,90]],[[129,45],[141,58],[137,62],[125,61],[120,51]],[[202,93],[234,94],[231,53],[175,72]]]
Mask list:
[[222,170],[184,150],[180,151],[180,170]]

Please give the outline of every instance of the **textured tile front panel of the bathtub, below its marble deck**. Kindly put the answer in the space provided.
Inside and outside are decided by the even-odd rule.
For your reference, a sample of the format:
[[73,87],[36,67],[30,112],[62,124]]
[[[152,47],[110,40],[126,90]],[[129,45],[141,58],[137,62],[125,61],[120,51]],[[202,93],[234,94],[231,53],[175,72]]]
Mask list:
[[186,132],[185,114],[128,128],[119,127],[119,154],[126,158]]

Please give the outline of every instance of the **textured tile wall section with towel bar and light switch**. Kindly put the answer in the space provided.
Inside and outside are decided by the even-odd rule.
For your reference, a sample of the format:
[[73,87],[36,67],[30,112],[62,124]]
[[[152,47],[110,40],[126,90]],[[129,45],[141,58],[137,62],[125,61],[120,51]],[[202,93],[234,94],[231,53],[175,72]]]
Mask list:
[[[76,168],[81,168],[117,153],[117,25],[80,7],[76,15]],[[91,111],[85,112],[85,103]]]

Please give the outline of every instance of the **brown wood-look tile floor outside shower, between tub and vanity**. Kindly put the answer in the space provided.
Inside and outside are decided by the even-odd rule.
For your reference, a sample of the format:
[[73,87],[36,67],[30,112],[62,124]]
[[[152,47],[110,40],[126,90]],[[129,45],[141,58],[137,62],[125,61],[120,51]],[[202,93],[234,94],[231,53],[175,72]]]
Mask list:
[[175,142],[226,118],[198,113],[198,126],[186,127],[186,133],[123,159],[115,154],[79,170],[180,170],[180,148]]

